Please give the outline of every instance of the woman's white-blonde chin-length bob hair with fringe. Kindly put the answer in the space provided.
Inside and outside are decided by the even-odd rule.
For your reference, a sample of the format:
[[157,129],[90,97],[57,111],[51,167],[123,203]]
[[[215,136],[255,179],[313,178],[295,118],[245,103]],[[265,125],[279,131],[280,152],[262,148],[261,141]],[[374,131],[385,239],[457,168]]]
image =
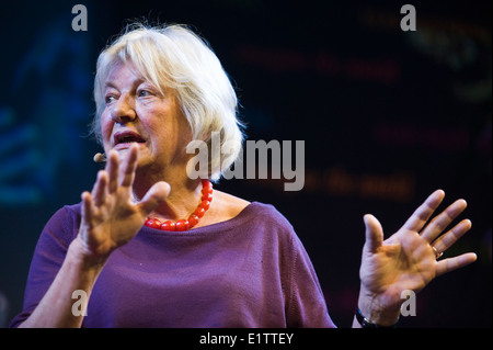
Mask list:
[[[104,84],[112,67],[119,63],[130,63],[161,93],[165,88],[175,91],[192,139],[205,142],[209,149],[208,173],[199,177],[218,180],[239,157],[244,136],[243,125],[237,118],[234,89],[207,43],[184,25],[135,23],[104,48],[96,65],[96,112],[92,123],[92,133],[101,145],[101,114],[106,106]],[[210,151],[214,132],[220,136],[220,149],[227,154]],[[222,147],[225,144],[228,147]]]

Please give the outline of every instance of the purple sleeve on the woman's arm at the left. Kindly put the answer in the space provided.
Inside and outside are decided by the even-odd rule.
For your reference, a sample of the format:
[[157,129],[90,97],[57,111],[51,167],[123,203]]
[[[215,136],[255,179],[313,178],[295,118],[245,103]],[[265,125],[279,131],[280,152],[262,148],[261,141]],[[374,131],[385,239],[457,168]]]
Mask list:
[[77,235],[79,223],[79,216],[70,206],[64,206],[47,222],[31,261],[23,309],[9,327],[19,327],[36,308],[58,273],[68,246]]

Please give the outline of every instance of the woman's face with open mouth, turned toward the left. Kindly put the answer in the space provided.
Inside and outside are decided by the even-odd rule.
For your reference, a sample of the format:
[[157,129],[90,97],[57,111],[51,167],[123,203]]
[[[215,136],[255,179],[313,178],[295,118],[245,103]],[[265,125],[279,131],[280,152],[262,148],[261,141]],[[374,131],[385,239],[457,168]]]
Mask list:
[[192,134],[171,89],[162,95],[137,70],[123,63],[113,66],[104,87],[106,108],[101,115],[104,150],[121,158],[139,145],[139,168],[185,170]]

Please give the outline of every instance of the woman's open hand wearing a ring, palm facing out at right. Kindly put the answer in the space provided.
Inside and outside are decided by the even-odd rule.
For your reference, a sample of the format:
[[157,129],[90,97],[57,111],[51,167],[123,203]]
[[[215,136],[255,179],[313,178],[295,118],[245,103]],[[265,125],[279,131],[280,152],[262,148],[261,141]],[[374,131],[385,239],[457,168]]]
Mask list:
[[382,326],[392,325],[404,301],[401,298],[403,291],[417,293],[436,276],[475,261],[473,252],[438,260],[471,228],[471,222],[462,219],[444,233],[466,208],[463,200],[454,202],[428,223],[444,197],[445,192],[442,190],[432,193],[406,223],[386,240],[377,218],[365,215],[366,242],[359,270],[362,290],[358,307],[371,321]]

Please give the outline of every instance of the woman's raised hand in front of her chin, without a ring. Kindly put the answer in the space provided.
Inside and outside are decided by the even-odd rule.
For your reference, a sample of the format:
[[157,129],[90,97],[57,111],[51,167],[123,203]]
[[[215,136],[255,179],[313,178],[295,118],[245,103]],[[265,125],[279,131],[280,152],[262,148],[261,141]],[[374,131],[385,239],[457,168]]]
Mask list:
[[136,203],[131,194],[137,168],[138,146],[133,145],[122,161],[110,153],[106,168],[98,173],[92,192],[82,193],[81,224],[77,239],[87,258],[106,259],[142,227],[147,216],[170,193],[167,182],[157,182]]

